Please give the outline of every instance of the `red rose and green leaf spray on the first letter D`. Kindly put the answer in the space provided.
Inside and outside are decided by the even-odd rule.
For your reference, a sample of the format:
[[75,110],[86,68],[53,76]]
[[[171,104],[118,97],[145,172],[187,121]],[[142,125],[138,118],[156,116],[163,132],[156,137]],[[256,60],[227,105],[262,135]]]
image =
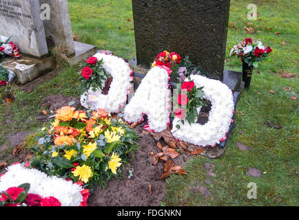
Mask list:
[[94,56],[87,59],[79,77],[81,80],[81,94],[90,88],[92,88],[92,91],[101,89],[102,94],[108,93],[113,78],[105,71],[103,63],[103,59],[99,61]]

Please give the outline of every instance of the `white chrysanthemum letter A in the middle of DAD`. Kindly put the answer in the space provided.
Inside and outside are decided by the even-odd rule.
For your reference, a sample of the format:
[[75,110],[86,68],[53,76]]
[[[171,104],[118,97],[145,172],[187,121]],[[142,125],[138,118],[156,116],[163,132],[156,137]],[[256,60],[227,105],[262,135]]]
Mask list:
[[161,67],[149,70],[134,97],[125,107],[125,120],[130,123],[143,120],[143,113],[148,117],[149,129],[161,132],[167,129],[170,114],[169,74]]

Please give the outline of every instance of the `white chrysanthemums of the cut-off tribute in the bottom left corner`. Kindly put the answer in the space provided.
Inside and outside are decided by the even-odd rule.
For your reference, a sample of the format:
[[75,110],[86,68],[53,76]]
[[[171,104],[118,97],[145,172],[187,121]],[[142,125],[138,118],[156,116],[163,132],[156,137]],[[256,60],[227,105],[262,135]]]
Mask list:
[[8,167],[7,172],[0,177],[0,192],[21,184],[30,184],[29,193],[41,197],[55,197],[61,206],[80,206],[83,202],[83,188],[72,181],[58,177],[49,177],[37,169],[29,169],[21,164]]

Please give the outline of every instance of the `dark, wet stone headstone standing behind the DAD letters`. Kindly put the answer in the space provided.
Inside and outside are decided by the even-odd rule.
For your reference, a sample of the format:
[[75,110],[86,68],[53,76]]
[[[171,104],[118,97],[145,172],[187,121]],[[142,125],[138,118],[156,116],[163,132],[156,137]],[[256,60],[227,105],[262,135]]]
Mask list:
[[168,50],[223,80],[230,0],[132,0],[137,63]]

